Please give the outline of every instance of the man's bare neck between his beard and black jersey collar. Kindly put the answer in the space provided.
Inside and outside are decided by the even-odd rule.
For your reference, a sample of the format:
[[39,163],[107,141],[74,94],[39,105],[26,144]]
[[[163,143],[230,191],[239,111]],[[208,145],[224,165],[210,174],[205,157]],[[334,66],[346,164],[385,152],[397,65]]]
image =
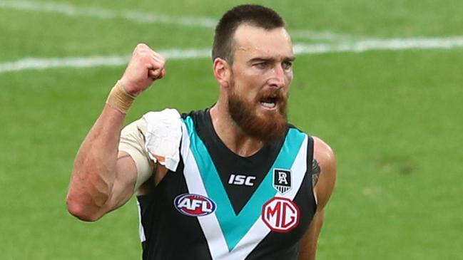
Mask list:
[[210,118],[215,132],[228,149],[242,157],[249,157],[263,147],[263,142],[246,135],[228,114],[228,108],[218,101],[210,109]]

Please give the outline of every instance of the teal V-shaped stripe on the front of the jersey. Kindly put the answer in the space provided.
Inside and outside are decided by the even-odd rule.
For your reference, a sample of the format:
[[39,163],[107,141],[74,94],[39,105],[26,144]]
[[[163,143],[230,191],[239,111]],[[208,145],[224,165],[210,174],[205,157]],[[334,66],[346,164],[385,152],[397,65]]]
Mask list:
[[203,141],[195,132],[193,119],[187,117],[183,121],[188,128],[190,149],[198,165],[205,190],[208,192],[208,197],[213,199],[217,204],[215,215],[218,218],[220,228],[225,236],[228,251],[232,251],[236,244],[238,244],[260,217],[262,205],[277,193],[272,183],[273,169],[279,168],[289,170],[292,167],[297,152],[299,152],[300,146],[304,141],[305,134],[294,128],[290,129],[283,143],[283,147],[273,163],[273,166],[270,168],[270,171],[267,173],[258,189],[255,190],[253,196],[250,197],[248,203],[245,204],[245,207],[236,215],[227,192],[225,191],[225,187],[223,187],[223,183],[220,181],[215,165],[210,158],[209,152]]

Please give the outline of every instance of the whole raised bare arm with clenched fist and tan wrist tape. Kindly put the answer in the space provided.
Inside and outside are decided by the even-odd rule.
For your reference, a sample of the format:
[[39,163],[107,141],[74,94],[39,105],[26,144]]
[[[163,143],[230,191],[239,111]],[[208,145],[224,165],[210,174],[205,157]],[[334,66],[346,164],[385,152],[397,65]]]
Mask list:
[[134,49],[74,161],[66,204],[78,219],[96,221],[133,195],[137,169],[126,152],[118,152],[121,129],[131,102],[154,80],[165,76],[165,64],[163,56],[146,44]]

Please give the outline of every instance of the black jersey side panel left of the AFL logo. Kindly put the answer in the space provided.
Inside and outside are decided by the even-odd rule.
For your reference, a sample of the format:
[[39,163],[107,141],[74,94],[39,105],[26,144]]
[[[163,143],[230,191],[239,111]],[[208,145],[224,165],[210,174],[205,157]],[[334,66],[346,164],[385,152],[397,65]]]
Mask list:
[[138,196],[146,234],[143,260],[211,259],[198,219],[179,214],[173,206],[175,197],[187,191],[182,172],[180,160],[177,172],[168,172],[153,192]]

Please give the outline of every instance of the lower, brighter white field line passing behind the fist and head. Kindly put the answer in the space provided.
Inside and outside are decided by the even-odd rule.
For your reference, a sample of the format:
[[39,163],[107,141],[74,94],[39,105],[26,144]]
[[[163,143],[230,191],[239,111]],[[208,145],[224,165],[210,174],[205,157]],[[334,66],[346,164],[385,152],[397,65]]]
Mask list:
[[[463,36],[449,38],[392,38],[369,39],[350,43],[295,43],[298,55],[365,51],[397,51],[419,49],[463,48]],[[159,51],[167,60],[209,58],[210,49],[168,49]],[[46,68],[82,68],[96,66],[123,66],[129,56],[90,56],[71,58],[23,58],[18,61],[0,63],[0,73]]]

